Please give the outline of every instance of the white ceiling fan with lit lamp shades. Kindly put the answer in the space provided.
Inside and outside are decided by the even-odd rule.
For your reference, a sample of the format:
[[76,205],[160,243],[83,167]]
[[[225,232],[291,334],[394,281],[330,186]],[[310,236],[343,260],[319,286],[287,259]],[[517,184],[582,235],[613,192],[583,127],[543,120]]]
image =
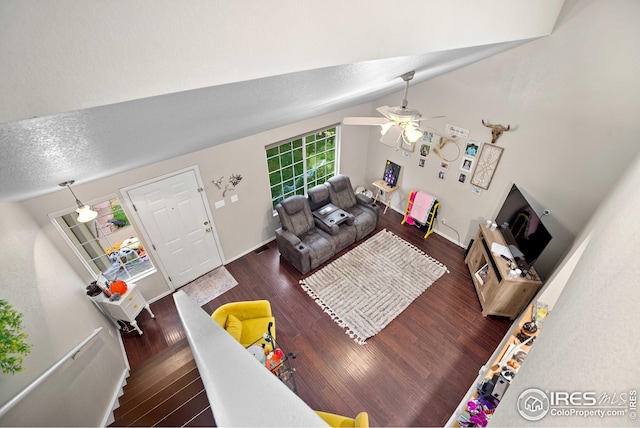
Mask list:
[[[418,110],[407,108],[407,93],[409,92],[409,81],[413,79],[415,71],[400,76],[405,82],[404,97],[402,104],[397,107],[381,106],[376,110],[384,117],[345,117],[342,121],[344,125],[379,125],[382,127],[380,142],[398,150],[403,144],[413,149],[413,145],[420,141],[424,131],[419,128],[422,119]],[[444,117],[444,116],[436,116]],[[435,119],[433,117],[432,119]]]

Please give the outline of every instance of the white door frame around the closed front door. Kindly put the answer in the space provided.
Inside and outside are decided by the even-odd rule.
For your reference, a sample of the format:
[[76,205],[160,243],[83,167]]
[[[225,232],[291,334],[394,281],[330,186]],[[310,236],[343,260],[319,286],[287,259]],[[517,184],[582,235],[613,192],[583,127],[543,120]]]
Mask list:
[[[153,244],[153,241],[151,239],[151,237],[149,236],[149,234],[147,233],[147,229],[144,226],[144,223],[142,222],[142,219],[140,218],[140,216],[138,216],[138,211],[133,207],[133,201],[129,198],[129,194],[127,193],[129,190],[133,190],[136,189],[138,187],[142,187],[142,186],[146,186],[158,181],[162,181],[165,180],[169,177],[173,177],[175,175],[180,175],[180,174],[184,174],[185,172],[189,172],[189,171],[193,171],[195,177],[196,177],[196,182],[198,183],[198,188],[201,189],[200,190],[200,194],[202,195],[202,199],[203,199],[203,204],[204,204],[204,209],[205,212],[207,213],[207,219],[209,220],[209,225],[211,226],[211,233],[213,234],[213,241],[216,244],[216,248],[218,249],[218,253],[220,254],[220,260],[222,261],[222,266],[224,266],[226,264],[226,259],[224,257],[224,252],[222,251],[222,245],[220,245],[220,237],[218,236],[218,230],[216,229],[216,225],[215,222],[213,221],[213,213],[211,212],[211,206],[209,204],[209,198],[207,197],[207,193],[204,190],[204,185],[202,182],[202,177],[200,176],[200,169],[198,168],[198,165],[192,165],[186,168],[182,168],[179,169],[177,171],[173,171],[167,174],[163,174],[154,178],[150,178],[148,180],[145,181],[141,181],[139,183],[135,183],[135,184],[131,184],[129,186],[123,187],[120,189],[120,195],[122,196],[122,201],[124,201],[124,203],[127,205],[127,209],[129,211],[129,213],[131,213],[133,220],[136,222],[136,225],[138,227],[138,231],[140,232],[140,234],[142,235],[143,239],[148,242],[149,244]],[[152,247],[153,248],[153,247]],[[167,273],[167,270],[164,266],[164,264],[162,263],[162,259],[160,258],[160,256],[158,255],[158,253],[154,250],[151,254],[153,254],[153,261],[154,261],[154,265],[158,268],[158,270],[160,271],[160,273],[162,273],[162,276],[164,277],[164,280],[166,281],[167,285],[169,286],[169,290],[171,290],[172,292],[176,290],[176,287],[173,286],[173,283],[169,280],[169,274]]]

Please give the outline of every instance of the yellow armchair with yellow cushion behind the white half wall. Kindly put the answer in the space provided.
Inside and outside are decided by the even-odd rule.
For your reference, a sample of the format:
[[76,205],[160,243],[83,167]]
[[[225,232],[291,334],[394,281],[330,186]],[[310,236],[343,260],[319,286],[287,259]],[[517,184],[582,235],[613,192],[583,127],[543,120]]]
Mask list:
[[[276,320],[268,300],[227,303],[213,311],[211,318],[245,348],[267,332],[269,323],[273,323],[271,335],[276,338]],[[256,344],[271,348],[264,341]]]

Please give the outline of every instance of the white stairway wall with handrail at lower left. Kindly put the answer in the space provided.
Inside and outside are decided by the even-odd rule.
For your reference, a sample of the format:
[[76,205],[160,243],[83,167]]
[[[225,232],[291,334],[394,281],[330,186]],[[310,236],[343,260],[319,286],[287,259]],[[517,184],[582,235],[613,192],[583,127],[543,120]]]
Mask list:
[[[0,299],[23,314],[24,331],[32,345],[23,371],[0,374],[0,406],[96,328],[104,328],[76,360],[60,369],[66,373],[62,381],[54,377],[44,383],[0,424],[101,424],[127,369],[119,332],[87,298],[86,283],[22,204],[0,203],[0,260]],[[82,385],[77,383],[80,380]]]

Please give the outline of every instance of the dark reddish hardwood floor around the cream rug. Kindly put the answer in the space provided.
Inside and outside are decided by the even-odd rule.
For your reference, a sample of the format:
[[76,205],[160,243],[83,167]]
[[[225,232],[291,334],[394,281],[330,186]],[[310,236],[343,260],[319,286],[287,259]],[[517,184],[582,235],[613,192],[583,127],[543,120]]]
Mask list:
[[[226,265],[238,285],[203,309],[212,313],[227,302],[268,299],[278,344],[297,354],[293,361],[298,395],[313,409],[348,416],[366,411],[372,426],[442,426],[511,321],[481,315],[464,249],[435,233],[424,239],[422,231],[400,225],[401,220],[400,214],[388,211],[379,228],[422,249],[450,272],[366,345],[356,344],[307,296],[298,284],[303,275],[280,260],[275,241]],[[173,296],[151,307],[156,319],[146,311],[138,318],[143,336],[123,334],[132,367],[127,387],[136,367],[184,343]],[[158,373],[162,372],[155,376],[163,376]],[[206,415],[192,421],[209,423]]]

